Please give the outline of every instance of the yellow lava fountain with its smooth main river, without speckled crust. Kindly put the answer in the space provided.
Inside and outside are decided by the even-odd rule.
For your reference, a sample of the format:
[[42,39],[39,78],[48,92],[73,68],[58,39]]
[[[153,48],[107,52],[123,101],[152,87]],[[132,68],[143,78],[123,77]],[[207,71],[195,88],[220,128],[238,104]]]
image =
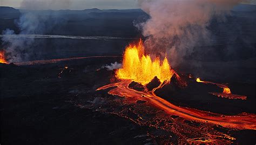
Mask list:
[[[138,44],[126,47],[123,58],[123,68],[116,71],[116,77],[121,81],[100,87],[97,90],[116,87],[111,89],[109,94],[137,99],[144,97],[152,105],[163,109],[166,113],[178,115],[187,120],[210,122],[214,125],[221,125],[227,128],[256,129],[256,116],[254,114],[244,113],[235,116],[225,116],[199,111],[193,108],[179,107],[157,96],[154,91],[165,85],[163,82],[171,81],[170,79],[173,74],[174,70],[171,70],[166,58],[163,62],[160,62],[159,58],[152,61],[150,56],[144,55],[142,40],[140,40]],[[161,84],[152,91],[147,91],[147,89],[145,91],[136,91],[129,88],[129,84],[131,84],[132,81],[140,82],[140,84],[145,86],[155,76],[159,78]],[[215,84],[212,82],[200,81],[200,79],[198,79],[198,82]],[[224,88],[224,93],[231,93],[227,86],[222,84],[215,85]]]

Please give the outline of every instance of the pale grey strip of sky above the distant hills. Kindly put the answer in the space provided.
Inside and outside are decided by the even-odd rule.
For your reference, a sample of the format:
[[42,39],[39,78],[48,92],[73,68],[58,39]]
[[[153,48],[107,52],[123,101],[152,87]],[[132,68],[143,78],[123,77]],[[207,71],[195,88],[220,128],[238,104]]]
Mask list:
[[[83,10],[83,9],[135,9],[138,8],[137,0],[25,0],[26,7],[28,3],[31,3],[31,9],[73,9],[73,10]],[[23,2],[23,4],[22,4]],[[64,4],[64,8],[61,8],[63,3],[68,2],[69,4]],[[36,7],[35,3],[37,4]],[[0,0],[0,5],[2,6],[12,6],[14,8],[21,8],[24,5],[24,0]],[[34,8],[33,8],[34,7]]]

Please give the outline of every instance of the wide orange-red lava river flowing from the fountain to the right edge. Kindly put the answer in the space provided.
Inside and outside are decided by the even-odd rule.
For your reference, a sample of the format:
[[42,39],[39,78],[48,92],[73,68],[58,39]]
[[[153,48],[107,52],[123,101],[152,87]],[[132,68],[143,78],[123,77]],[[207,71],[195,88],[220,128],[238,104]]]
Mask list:
[[116,87],[111,89],[108,93],[118,96],[132,97],[134,99],[145,98],[147,102],[152,105],[163,109],[166,113],[171,115],[177,115],[181,118],[193,121],[200,121],[206,123],[212,123],[214,125],[220,125],[226,128],[235,129],[256,129],[256,115],[249,113],[242,113],[234,116],[222,115],[217,113],[211,113],[206,111],[200,111],[198,109],[180,107],[166,101],[159,96],[157,96],[153,91],[140,92],[132,88],[129,88],[131,80],[123,80],[113,84],[105,85],[98,88],[97,90],[107,89],[111,87]]

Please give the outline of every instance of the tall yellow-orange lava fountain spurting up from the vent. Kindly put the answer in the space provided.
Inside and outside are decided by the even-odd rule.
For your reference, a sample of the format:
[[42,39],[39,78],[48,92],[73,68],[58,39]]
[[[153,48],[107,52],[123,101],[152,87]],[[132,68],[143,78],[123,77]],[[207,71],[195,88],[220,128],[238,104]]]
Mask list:
[[138,44],[130,44],[126,47],[123,58],[123,68],[116,72],[119,79],[129,79],[148,84],[154,77],[161,82],[170,81],[174,71],[165,57],[154,60],[149,55],[144,54],[143,42],[140,39]]

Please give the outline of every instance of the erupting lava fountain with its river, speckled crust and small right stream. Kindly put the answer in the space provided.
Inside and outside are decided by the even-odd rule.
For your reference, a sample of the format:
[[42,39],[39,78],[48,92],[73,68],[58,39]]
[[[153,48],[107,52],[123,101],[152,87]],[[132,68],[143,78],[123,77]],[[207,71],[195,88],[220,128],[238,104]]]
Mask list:
[[[164,139],[161,143],[231,144],[236,140],[230,134],[231,130],[256,129],[255,114],[223,115],[180,107],[160,98],[155,92],[170,85],[172,81],[178,82],[176,84],[181,88],[186,87],[187,82],[181,80],[181,77],[172,70],[166,58],[162,61],[160,58],[152,60],[150,56],[145,55],[142,40],[138,44],[126,47],[123,68],[115,73],[116,79],[112,84],[100,87],[97,91],[109,89],[109,94],[122,99],[110,101],[112,111],[104,107],[99,107],[98,110],[117,114],[140,126],[164,130],[165,135],[162,135]],[[159,83],[150,89],[148,86],[153,80]],[[232,94],[230,88],[223,84],[201,81],[199,78],[194,79],[194,82],[222,88],[223,92],[211,93],[216,96],[246,99],[246,96]],[[123,106],[120,107],[120,104]]]

